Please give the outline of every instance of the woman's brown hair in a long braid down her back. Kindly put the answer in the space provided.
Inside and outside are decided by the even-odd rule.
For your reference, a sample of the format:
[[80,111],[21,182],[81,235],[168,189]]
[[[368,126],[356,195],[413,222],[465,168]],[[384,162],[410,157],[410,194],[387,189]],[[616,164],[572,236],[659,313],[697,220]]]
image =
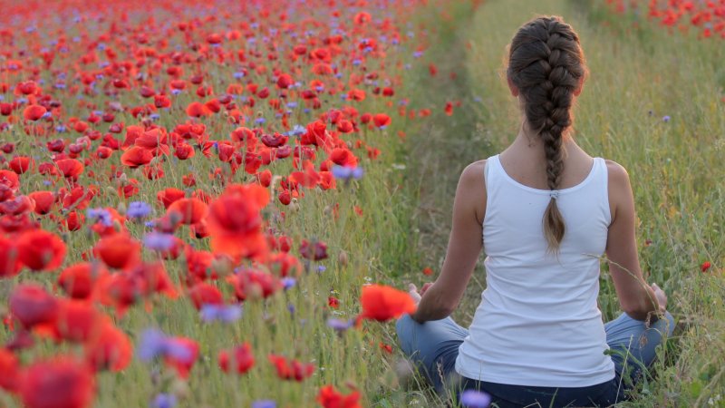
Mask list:
[[[586,75],[579,37],[561,17],[537,17],[518,29],[511,40],[507,76],[523,98],[527,123],[544,141],[546,179],[556,190],[564,172],[562,139],[572,125],[574,93]],[[558,251],[564,218],[552,193],[543,219],[548,250]]]

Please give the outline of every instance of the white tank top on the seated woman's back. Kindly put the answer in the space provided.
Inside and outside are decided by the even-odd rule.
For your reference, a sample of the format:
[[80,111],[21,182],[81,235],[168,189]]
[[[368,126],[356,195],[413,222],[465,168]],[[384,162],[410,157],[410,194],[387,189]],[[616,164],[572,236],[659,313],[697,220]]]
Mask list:
[[558,257],[546,253],[542,217],[551,198],[507,175],[498,155],[486,163],[486,290],[456,371],[498,384],[585,387],[614,378],[604,350],[599,259],[611,222],[604,159],[584,181],[559,189],[565,222]]

